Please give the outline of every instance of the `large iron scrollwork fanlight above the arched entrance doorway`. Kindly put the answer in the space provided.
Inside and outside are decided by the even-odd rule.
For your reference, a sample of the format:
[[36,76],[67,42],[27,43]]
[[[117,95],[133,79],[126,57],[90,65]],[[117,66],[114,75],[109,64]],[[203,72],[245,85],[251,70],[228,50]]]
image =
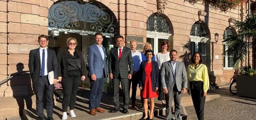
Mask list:
[[48,11],[48,28],[64,32],[115,34],[113,13],[97,2],[60,0]]

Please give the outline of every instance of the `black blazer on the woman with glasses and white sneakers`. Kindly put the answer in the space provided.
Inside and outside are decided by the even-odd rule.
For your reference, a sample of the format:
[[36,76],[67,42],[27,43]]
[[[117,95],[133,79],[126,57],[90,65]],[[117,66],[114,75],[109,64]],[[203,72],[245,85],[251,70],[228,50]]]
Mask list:
[[[84,63],[84,57],[82,55],[82,52],[80,50],[75,49],[78,57],[81,61],[81,76],[85,76],[85,63]],[[67,71],[68,71],[68,48],[64,48],[60,50],[58,53],[58,76],[66,77]]]

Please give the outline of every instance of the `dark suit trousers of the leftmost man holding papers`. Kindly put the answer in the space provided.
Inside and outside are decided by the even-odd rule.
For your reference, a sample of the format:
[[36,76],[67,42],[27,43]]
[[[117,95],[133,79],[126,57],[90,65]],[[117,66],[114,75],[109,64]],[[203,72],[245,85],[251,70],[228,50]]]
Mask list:
[[38,117],[44,117],[44,91],[46,91],[46,112],[47,117],[52,117],[53,108],[53,84],[50,85],[48,76],[40,76],[36,86],[36,112]]

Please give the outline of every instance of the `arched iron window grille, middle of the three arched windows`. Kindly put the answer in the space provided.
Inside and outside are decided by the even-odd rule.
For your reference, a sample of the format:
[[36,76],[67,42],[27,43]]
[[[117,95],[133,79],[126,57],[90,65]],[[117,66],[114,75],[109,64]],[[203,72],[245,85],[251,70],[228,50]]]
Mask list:
[[206,31],[204,26],[200,22],[196,22],[193,24],[191,31],[190,31],[191,36],[199,36],[199,37],[206,37]]

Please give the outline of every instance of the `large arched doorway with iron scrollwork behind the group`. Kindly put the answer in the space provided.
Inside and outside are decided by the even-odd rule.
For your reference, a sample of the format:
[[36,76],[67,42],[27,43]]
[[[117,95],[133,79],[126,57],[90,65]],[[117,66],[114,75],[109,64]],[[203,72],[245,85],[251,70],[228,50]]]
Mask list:
[[[95,43],[96,32],[103,34],[102,45],[108,55],[109,45],[114,43],[116,20],[114,13],[100,2],[59,0],[48,11],[48,47],[58,54],[60,49],[67,47],[67,38],[76,38],[76,48],[82,51],[84,62],[87,64],[87,48]],[[108,82],[107,78],[106,83]],[[87,78],[81,86],[89,88],[89,83]]]

